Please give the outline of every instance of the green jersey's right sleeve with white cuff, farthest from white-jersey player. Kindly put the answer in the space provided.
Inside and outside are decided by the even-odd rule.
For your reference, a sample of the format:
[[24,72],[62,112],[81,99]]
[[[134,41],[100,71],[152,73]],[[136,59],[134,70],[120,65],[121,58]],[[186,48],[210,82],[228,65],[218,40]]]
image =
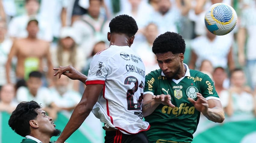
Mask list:
[[206,98],[206,100],[209,99],[216,99],[216,100],[220,100],[215,87],[214,87],[214,83],[211,80],[211,78],[207,75],[204,74],[204,81],[201,82],[201,94],[203,95],[204,98]]

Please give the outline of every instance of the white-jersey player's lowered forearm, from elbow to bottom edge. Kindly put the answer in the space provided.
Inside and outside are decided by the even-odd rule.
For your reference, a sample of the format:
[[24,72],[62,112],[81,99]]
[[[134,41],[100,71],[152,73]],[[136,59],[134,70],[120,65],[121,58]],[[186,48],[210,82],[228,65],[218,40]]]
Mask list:
[[58,141],[65,142],[83,123],[87,118],[91,109],[87,108],[85,104],[78,104],[74,109],[66,127],[64,128]]

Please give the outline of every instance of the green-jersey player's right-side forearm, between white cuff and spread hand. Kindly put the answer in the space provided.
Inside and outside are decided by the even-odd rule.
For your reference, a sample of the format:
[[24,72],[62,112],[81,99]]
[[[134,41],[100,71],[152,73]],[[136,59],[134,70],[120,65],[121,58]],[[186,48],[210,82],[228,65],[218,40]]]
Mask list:
[[223,109],[219,107],[214,107],[214,108],[208,108],[208,111],[204,114],[208,120],[222,123],[225,119],[224,111]]

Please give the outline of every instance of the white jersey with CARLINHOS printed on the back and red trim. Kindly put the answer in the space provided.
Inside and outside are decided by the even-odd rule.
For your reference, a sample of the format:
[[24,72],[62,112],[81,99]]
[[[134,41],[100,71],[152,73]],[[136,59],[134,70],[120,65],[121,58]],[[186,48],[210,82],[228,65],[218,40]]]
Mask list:
[[142,96],[145,66],[129,46],[111,45],[92,59],[88,84],[104,84],[102,94],[92,112],[106,126],[125,134],[149,129],[142,120]]

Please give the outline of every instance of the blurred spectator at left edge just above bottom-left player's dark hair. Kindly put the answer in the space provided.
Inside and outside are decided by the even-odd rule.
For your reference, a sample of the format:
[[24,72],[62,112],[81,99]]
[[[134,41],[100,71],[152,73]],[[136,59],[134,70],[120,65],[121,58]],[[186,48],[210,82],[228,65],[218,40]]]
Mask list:
[[18,103],[15,101],[15,90],[12,84],[5,84],[0,89],[0,112],[11,113]]

